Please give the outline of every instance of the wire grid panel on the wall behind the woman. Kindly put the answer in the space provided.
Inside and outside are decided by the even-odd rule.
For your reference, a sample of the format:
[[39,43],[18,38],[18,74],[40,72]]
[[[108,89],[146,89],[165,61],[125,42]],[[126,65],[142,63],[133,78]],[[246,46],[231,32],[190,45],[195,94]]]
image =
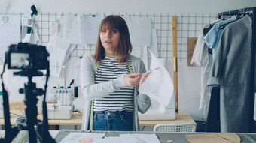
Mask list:
[[[63,13],[38,13],[35,16],[35,24],[38,29],[38,36],[40,40],[38,44],[47,46],[50,40],[50,23],[54,22]],[[72,14],[72,13],[68,13]],[[77,14],[77,13],[73,13]],[[82,13],[84,15],[98,15],[92,13]],[[113,14],[113,13],[111,13]],[[127,14],[127,13],[125,13]],[[107,16],[108,14],[99,14]],[[117,15],[124,15],[117,13]],[[172,16],[177,16],[177,46],[178,46],[178,58],[187,59],[187,38],[198,37],[199,32],[205,25],[218,19],[217,14],[136,14],[131,13],[128,15],[132,17],[148,17],[152,19],[152,29],[157,31],[157,58],[166,58],[170,60],[172,58]],[[86,53],[94,53],[95,45],[76,46],[72,52],[71,57],[80,57]]]

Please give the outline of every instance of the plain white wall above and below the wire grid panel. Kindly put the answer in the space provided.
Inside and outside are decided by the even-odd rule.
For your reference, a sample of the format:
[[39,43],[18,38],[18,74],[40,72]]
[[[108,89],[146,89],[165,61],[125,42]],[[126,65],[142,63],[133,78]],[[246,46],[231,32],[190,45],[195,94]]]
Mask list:
[[[256,7],[255,0],[2,0],[0,11],[2,13],[31,13],[30,7],[35,4],[38,12],[43,13],[218,13],[243,7]],[[7,7],[5,7],[7,5]],[[6,11],[5,11],[6,9]],[[167,62],[166,68],[172,75],[172,63]],[[69,73],[69,71],[67,71]],[[61,77],[63,77],[63,74]],[[11,76],[10,73],[8,76]],[[18,89],[23,87],[26,78],[14,77],[8,82],[11,92],[11,101],[23,100],[23,95],[17,96]],[[38,78],[37,81],[44,81]],[[69,84],[70,79],[67,79]],[[50,78],[49,87],[62,83],[63,78]],[[20,85],[14,86],[14,85]],[[37,82],[42,87],[44,82]],[[178,92],[179,109],[190,113],[192,118],[201,119],[198,113],[200,100],[200,67],[187,67],[186,60],[178,60]],[[81,96],[75,100],[76,108],[82,109],[84,98]]]

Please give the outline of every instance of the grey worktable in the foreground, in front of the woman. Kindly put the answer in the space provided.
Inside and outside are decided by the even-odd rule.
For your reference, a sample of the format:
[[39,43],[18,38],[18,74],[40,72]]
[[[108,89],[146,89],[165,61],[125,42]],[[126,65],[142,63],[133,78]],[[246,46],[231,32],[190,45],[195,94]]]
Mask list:
[[[81,133],[81,131],[78,130],[60,130],[59,134],[56,136],[56,142],[61,142],[62,139],[65,139],[66,136],[69,135],[69,133]],[[175,143],[189,143],[191,140],[188,138],[188,136],[194,136],[197,139],[197,143],[201,142],[215,142],[218,141],[218,138],[213,138],[214,135],[219,135],[218,137],[221,138],[221,136],[229,136],[228,138],[222,137],[222,141],[224,142],[241,142],[241,143],[254,143],[256,142],[256,133],[157,133],[157,132],[132,132],[132,131],[84,131],[82,133],[104,133],[104,137],[118,137],[120,134],[124,135],[138,135],[141,134],[144,136],[145,134],[155,134],[157,136],[157,139],[161,143],[166,142],[175,142]],[[200,137],[198,137],[200,136]],[[233,137],[236,137],[236,139],[233,139]],[[189,139],[189,141],[188,141]],[[200,140],[199,140],[200,139]],[[114,142],[114,141],[113,141]]]

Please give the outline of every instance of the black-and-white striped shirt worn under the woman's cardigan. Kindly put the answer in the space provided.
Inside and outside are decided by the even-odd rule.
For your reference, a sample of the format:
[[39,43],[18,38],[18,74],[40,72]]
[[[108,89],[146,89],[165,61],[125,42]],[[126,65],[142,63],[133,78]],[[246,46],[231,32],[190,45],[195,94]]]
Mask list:
[[[131,62],[129,61],[130,65]],[[95,82],[108,82],[119,76],[130,74],[126,62],[119,64],[117,58],[105,57],[96,72]],[[94,100],[93,112],[126,110],[133,112],[133,88],[123,87],[119,91],[114,91],[108,97]]]

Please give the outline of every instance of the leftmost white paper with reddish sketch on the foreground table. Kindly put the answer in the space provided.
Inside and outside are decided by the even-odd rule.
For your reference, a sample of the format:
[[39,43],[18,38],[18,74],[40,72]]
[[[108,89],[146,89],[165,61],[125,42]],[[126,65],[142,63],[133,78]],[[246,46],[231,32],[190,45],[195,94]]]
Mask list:
[[69,133],[60,143],[102,143],[103,136],[105,136],[105,133]]

